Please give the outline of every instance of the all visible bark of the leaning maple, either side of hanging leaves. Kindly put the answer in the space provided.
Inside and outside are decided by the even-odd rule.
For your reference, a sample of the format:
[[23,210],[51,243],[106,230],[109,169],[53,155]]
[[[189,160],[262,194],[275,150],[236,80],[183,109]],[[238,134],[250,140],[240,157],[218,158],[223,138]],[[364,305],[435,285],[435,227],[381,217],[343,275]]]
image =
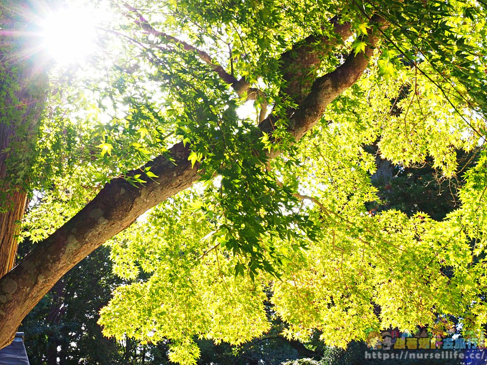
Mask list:
[[[339,37],[346,37],[347,32],[350,32],[349,27],[348,31],[339,32]],[[304,87],[306,95],[302,95],[303,86],[299,83],[300,91],[289,90],[289,85],[293,85],[304,71],[302,66],[297,65],[295,70],[299,70],[299,73],[293,74],[289,63],[298,62],[300,57],[287,58],[283,72],[288,84],[286,93],[297,95],[295,98],[299,104],[299,108],[290,117],[289,126],[289,132],[296,140],[318,123],[326,106],[337,95],[357,81],[367,67],[375,41],[376,35],[370,35],[371,46],[364,53],[355,56],[352,52],[335,71],[313,78],[310,87]],[[322,42],[313,44],[315,47],[328,47],[330,43],[331,40],[327,42],[327,39],[323,39]],[[294,55],[313,52],[313,47],[302,47],[302,44],[297,46]],[[319,59],[320,57],[314,57],[307,64],[310,73],[318,67]],[[244,80],[238,85],[243,83]],[[272,132],[272,118],[271,115],[263,120],[259,127]],[[147,179],[148,183],[139,187],[134,187],[121,178],[112,180],[75,217],[37,244],[16,267],[0,279],[0,348],[10,343],[24,316],[62,275],[105,241],[127,228],[145,211],[188,188],[197,180],[199,166],[195,164],[194,168],[191,167],[188,162],[189,152],[187,146],[178,143],[170,148],[170,159],[159,156],[150,161],[146,166],[150,166],[150,171],[158,178]],[[134,170],[132,174],[140,174],[141,169]]]

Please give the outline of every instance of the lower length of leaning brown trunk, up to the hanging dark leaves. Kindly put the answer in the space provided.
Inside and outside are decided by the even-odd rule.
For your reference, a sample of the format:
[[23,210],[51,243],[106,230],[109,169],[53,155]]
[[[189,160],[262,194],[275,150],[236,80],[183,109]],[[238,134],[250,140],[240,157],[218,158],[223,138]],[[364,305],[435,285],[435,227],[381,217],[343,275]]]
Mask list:
[[[140,187],[114,179],[93,201],[39,243],[0,280],[0,348],[11,340],[23,317],[79,261],[150,207],[182,191],[197,179],[198,166],[187,161],[189,150],[173,146],[169,158],[159,156],[147,166],[159,176]],[[139,170],[133,174],[140,173]]]

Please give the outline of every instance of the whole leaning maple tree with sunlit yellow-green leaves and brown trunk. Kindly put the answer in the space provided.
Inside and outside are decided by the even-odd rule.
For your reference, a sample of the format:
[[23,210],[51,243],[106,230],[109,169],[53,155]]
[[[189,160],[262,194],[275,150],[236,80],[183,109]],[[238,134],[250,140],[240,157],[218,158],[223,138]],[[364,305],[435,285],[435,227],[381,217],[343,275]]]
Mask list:
[[[445,177],[458,149],[482,149],[482,2],[114,1],[71,76],[40,61],[33,4],[0,7],[0,346],[157,204],[112,241],[118,273],[149,278],[117,290],[101,323],[169,338],[174,361],[194,361],[195,335],[268,329],[270,293],[289,336],[318,328],[337,345],[448,327],[438,316],[482,328],[485,155],[442,221],[365,206],[378,199],[368,145]],[[11,268],[29,194],[39,242]]]

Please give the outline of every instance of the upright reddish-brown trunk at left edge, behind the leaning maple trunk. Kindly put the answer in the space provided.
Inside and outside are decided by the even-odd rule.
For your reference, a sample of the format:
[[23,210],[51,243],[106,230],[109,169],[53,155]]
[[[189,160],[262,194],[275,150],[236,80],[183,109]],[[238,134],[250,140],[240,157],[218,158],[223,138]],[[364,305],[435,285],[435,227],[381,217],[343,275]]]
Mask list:
[[15,263],[47,90],[42,60],[34,59],[29,40],[35,31],[29,28],[31,10],[28,0],[0,3],[0,277]]

